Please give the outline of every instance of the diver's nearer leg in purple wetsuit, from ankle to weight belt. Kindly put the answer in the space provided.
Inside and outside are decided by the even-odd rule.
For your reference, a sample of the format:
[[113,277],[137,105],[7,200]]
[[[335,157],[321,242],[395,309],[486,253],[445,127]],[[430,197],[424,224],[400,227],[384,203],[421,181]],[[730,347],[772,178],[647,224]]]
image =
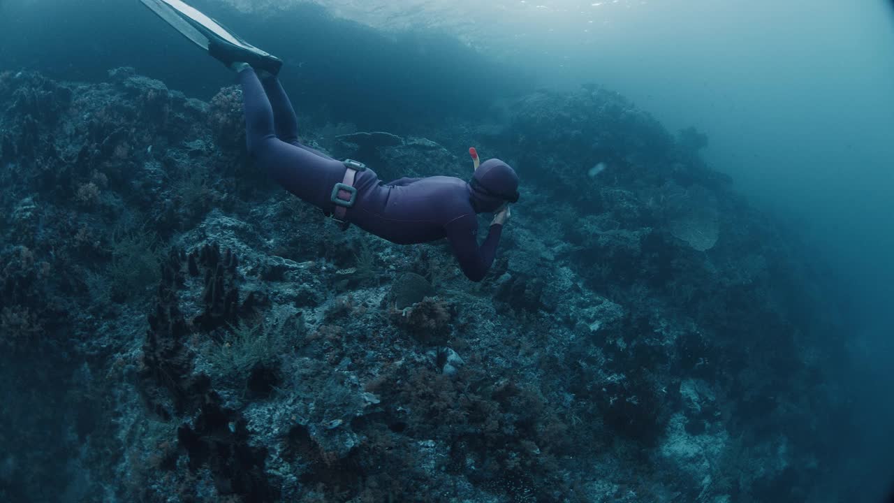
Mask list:
[[239,81],[249,156],[287,191],[321,209],[332,209],[332,188],[342,181],[345,166],[276,138],[273,107],[254,70],[243,69]]

